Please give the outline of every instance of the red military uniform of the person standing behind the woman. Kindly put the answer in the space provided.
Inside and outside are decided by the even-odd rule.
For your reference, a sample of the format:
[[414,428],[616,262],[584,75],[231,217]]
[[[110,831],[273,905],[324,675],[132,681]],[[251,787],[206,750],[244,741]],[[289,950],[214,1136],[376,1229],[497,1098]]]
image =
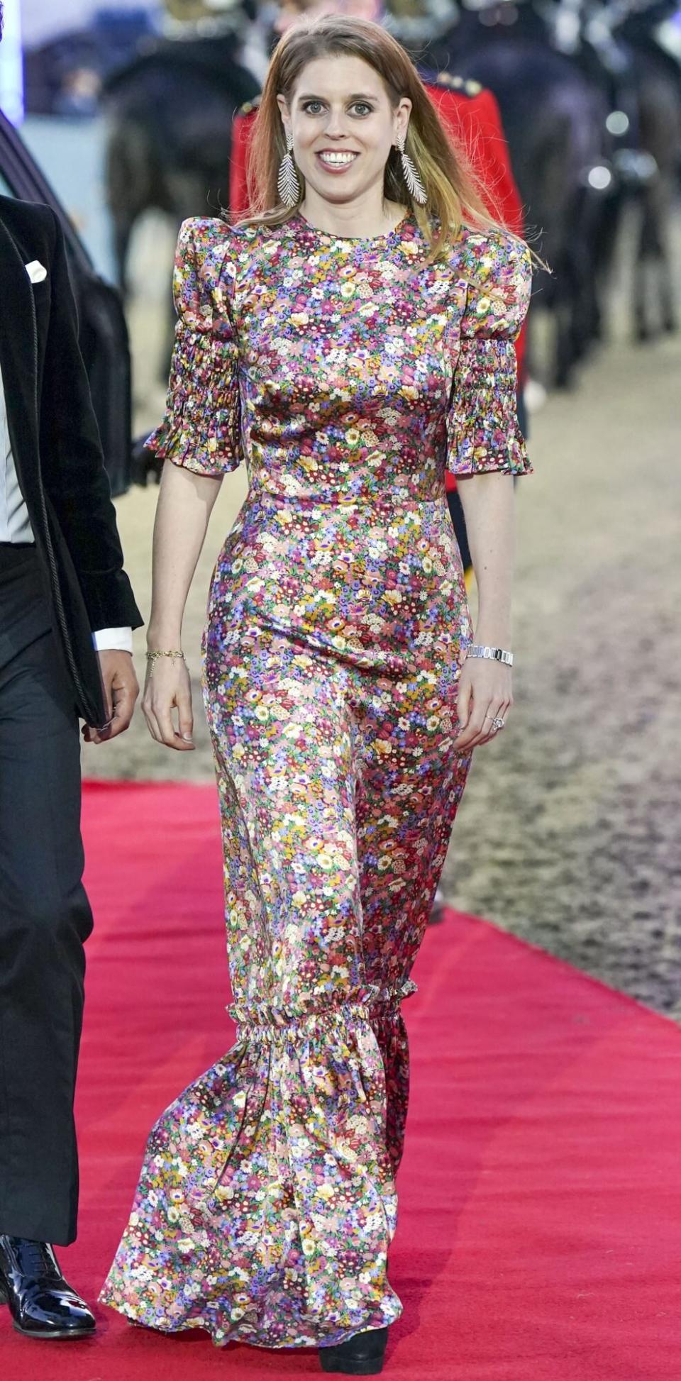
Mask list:
[[[424,77],[425,90],[456,144],[463,145],[481,184],[482,195],[493,215],[499,215],[510,231],[522,235],[522,202],[515,186],[508,145],[501,127],[501,116],[492,91],[479,81],[441,72]],[[246,215],[249,209],[247,160],[258,101],[247,101],[233,119],[232,157],[229,164],[229,210],[233,217]],[[518,373],[522,377],[525,329],[517,342]],[[456,489],[453,475],[446,476],[448,489]]]

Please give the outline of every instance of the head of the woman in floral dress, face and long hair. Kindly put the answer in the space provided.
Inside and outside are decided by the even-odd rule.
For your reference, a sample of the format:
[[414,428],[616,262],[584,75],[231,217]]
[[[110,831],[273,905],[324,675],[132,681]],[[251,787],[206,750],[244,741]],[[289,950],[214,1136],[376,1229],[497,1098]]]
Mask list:
[[464,221],[495,226],[410,58],[363,19],[300,23],[278,44],[253,131],[249,196],[251,224],[280,224],[304,203],[314,224],[345,235],[380,233],[410,209],[435,250]]

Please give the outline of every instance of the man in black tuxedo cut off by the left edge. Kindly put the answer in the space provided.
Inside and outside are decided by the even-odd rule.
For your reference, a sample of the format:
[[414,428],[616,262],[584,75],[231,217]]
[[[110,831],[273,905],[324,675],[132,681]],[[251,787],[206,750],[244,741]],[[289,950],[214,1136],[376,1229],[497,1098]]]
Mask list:
[[0,196],[0,1301],[19,1331],[64,1338],[95,1323],[52,1250],[76,1235],[93,925],[79,715],[90,743],[127,728],[142,620],[47,206]]

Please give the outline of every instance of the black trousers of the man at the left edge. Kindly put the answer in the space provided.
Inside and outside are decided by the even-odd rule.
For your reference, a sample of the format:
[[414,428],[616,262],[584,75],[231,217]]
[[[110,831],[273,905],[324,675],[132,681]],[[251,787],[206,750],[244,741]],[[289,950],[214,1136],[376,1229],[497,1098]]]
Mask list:
[[0,545],[0,1233],[76,1236],[80,746],[32,547]]

